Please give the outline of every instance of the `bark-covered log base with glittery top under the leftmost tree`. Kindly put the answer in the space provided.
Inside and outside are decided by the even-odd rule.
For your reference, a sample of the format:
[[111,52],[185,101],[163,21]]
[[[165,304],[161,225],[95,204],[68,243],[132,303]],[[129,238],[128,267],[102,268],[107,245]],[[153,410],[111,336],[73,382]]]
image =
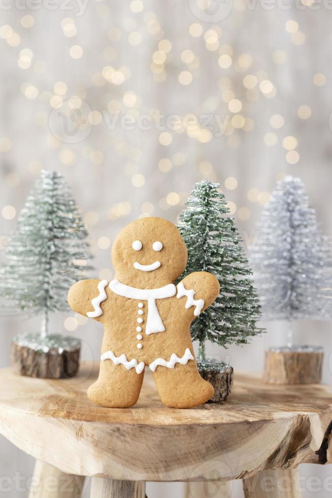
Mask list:
[[81,341],[64,335],[20,334],[14,337],[11,362],[17,374],[42,379],[74,377],[79,370]]

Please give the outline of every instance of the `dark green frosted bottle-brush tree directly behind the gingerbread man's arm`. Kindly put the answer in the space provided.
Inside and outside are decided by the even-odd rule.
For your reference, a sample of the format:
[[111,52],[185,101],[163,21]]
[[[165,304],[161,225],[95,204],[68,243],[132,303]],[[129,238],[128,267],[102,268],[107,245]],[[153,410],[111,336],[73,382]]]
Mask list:
[[206,340],[224,347],[247,344],[251,336],[263,331],[256,327],[260,309],[252,272],[218,187],[210,180],[196,183],[178,223],[188,249],[188,263],[181,278],[205,270],[216,275],[220,284],[216,301],[191,325],[192,339],[200,342],[201,360],[205,358]]

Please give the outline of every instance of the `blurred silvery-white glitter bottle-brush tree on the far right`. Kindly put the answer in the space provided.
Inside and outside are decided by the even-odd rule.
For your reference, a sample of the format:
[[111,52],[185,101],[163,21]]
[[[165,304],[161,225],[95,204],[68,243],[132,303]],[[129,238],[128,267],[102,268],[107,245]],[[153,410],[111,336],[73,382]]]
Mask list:
[[329,241],[300,178],[287,176],[277,183],[261,214],[250,259],[265,319],[330,319]]

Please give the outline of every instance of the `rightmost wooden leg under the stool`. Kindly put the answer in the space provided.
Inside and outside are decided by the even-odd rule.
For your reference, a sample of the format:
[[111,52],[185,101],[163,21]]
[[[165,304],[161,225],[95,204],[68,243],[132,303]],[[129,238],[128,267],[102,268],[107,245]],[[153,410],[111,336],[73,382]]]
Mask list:
[[245,498],[301,498],[297,469],[261,471],[243,480]]

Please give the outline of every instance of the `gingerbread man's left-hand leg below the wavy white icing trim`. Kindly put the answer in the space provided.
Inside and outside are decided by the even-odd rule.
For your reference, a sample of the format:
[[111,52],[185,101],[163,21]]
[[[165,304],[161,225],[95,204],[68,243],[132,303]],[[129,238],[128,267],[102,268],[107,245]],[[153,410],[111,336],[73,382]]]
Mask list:
[[88,389],[88,398],[102,407],[127,408],[137,403],[144,370],[137,374],[135,368],[127,370],[112,360],[101,361],[98,380]]

